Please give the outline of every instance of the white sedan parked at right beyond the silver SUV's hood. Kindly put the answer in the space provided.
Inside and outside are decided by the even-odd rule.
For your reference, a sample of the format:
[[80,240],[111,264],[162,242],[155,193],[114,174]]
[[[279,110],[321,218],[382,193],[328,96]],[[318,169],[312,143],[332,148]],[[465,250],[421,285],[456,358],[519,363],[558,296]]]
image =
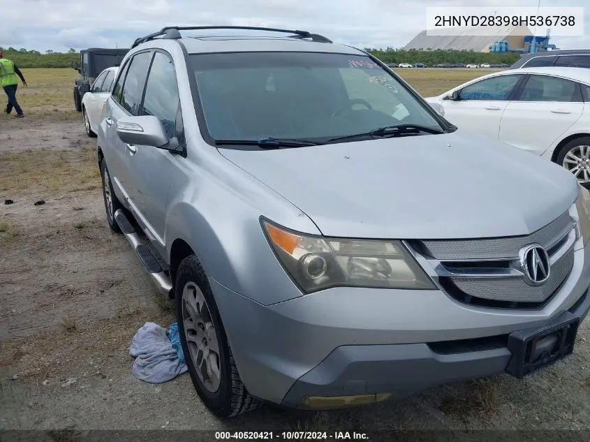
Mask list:
[[554,161],[590,189],[590,69],[501,71],[426,100],[455,126]]

